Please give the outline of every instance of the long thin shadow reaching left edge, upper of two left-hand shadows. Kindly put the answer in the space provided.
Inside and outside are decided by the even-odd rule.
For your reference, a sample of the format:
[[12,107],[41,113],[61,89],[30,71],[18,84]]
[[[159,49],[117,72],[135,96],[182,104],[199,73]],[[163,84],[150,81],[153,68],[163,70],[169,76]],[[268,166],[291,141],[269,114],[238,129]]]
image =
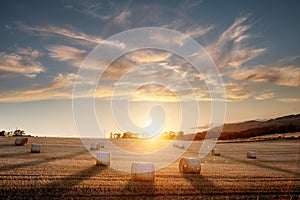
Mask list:
[[43,163],[56,161],[56,160],[70,159],[70,158],[77,157],[81,154],[84,154],[86,152],[87,151],[84,150],[84,151],[76,152],[76,153],[69,154],[66,156],[61,156],[61,157],[50,157],[50,158],[44,158],[41,160],[34,160],[34,161],[30,161],[30,162],[20,163],[20,164],[4,165],[4,166],[1,166],[1,171],[8,171],[8,170],[18,169],[18,168],[23,168],[23,167],[35,166],[35,165],[39,165],[39,164],[43,164]]

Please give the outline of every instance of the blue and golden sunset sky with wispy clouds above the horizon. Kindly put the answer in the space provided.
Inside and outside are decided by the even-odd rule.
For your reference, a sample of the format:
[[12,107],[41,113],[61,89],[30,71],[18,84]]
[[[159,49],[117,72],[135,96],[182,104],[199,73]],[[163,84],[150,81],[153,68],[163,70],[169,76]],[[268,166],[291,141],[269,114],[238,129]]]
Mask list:
[[[107,39],[143,27],[178,31],[204,48],[223,82],[225,123],[300,113],[299,1],[4,0],[0,5],[1,130],[82,137],[96,129],[106,136],[148,130],[133,125],[185,133],[208,128],[214,123],[212,102],[218,100],[207,81],[216,74],[197,73],[185,58],[162,49],[120,56],[98,77],[93,93],[74,96],[76,81],[90,86],[89,78],[103,70],[97,59],[89,63],[93,49],[126,48]],[[185,42],[155,39],[166,48]],[[93,68],[91,77],[78,76],[84,60]],[[74,114],[74,99],[92,97],[99,127],[90,118],[78,122],[84,104]],[[126,126],[128,119],[132,126]],[[86,133],[78,135],[80,124]]]

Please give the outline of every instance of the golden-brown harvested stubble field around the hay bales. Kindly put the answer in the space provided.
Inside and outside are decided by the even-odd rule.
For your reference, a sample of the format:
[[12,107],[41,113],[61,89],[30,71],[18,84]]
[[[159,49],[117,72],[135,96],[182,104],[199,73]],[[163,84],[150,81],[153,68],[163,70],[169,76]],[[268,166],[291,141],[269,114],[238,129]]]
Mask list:
[[[31,137],[26,146],[14,140],[0,138],[0,199],[300,199],[299,139],[220,143],[221,156],[203,158],[201,174],[180,174],[177,160],[156,171],[154,183],[96,166],[80,139]],[[130,139],[115,142],[136,147]],[[31,143],[42,144],[42,153],[31,154]],[[184,156],[197,157],[200,144]],[[246,158],[249,150],[257,159]],[[130,166],[132,158],[120,159]]]

